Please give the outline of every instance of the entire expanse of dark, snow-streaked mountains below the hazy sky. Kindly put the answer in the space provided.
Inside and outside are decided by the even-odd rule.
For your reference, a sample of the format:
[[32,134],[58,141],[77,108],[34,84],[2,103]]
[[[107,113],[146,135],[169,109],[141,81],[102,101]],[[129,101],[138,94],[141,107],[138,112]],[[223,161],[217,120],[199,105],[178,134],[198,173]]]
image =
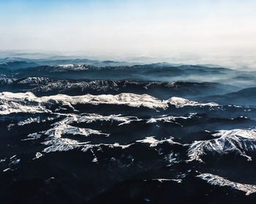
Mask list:
[[0,62],[2,203],[255,203],[255,71]]

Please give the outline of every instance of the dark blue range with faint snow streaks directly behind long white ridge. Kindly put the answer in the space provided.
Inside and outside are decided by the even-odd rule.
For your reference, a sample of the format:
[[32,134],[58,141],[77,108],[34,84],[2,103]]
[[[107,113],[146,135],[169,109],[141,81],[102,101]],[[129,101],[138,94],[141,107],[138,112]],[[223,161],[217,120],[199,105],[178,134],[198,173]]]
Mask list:
[[118,94],[136,93],[153,95],[160,99],[172,96],[195,98],[212,94],[225,94],[238,87],[210,82],[138,82],[130,80],[56,80],[45,77],[26,77],[22,79],[0,78],[0,91],[26,92],[37,95],[68,94]]

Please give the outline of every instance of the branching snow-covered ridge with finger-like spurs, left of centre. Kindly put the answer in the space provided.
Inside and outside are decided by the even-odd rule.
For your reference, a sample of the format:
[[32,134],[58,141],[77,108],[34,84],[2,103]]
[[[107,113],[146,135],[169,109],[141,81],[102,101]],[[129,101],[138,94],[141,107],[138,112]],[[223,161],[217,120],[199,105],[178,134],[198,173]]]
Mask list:
[[[67,114],[67,117],[62,119],[59,122],[53,123],[51,128],[39,133],[31,133],[28,136],[28,139],[37,139],[42,135],[47,136],[45,141],[42,144],[45,144],[46,147],[43,152],[56,152],[56,151],[68,151],[75,148],[81,148],[82,151],[86,151],[86,149],[91,149],[94,146],[100,146],[103,144],[92,145],[89,142],[79,142],[75,139],[64,138],[65,135],[73,135],[73,136],[90,136],[90,135],[101,135],[104,137],[108,137],[107,133],[102,133],[99,130],[92,130],[90,128],[81,128],[72,126],[73,122],[94,122],[97,120],[105,120],[105,121],[116,121],[120,122],[119,125],[127,124],[133,120],[136,120],[134,117],[121,117],[120,115],[110,115],[110,116],[101,116],[98,114]],[[26,139],[25,139],[26,140]],[[121,146],[119,144],[104,144],[108,146]],[[126,146],[121,146],[125,148]]]

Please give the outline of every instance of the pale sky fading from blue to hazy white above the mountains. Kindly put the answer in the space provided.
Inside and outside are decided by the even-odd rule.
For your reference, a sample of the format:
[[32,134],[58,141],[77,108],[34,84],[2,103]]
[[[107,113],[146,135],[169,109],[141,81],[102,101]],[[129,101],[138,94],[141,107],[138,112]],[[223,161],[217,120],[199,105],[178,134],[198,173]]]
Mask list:
[[1,0],[0,50],[256,68],[256,1]]

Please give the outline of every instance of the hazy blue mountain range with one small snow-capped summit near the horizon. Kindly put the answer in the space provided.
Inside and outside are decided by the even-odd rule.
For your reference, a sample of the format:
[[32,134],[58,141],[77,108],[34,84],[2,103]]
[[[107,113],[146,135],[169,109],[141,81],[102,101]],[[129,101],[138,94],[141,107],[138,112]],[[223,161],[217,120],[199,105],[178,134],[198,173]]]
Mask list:
[[[0,74],[8,74],[0,70]],[[11,72],[16,77],[43,76],[56,79],[109,79],[123,80],[136,79],[143,81],[199,81],[214,82],[216,79],[226,79],[236,76],[236,71],[227,68],[208,68],[201,66],[106,66],[93,65],[62,65],[62,66],[37,66]]]

